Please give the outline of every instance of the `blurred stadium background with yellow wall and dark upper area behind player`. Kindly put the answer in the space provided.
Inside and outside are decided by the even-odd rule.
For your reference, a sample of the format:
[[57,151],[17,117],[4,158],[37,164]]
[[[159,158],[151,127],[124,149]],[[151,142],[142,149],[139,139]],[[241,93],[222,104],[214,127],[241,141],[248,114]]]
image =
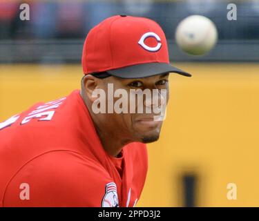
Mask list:
[[[19,19],[21,3],[30,6],[29,21]],[[236,21],[227,19],[228,3],[237,6]],[[157,21],[171,63],[193,75],[170,77],[166,121],[160,140],[148,144],[137,206],[259,206],[259,0],[0,0],[0,122],[80,88],[84,38],[112,15]],[[207,55],[175,44],[175,28],[189,15],[218,29]],[[236,200],[227,198],[228,184]]]

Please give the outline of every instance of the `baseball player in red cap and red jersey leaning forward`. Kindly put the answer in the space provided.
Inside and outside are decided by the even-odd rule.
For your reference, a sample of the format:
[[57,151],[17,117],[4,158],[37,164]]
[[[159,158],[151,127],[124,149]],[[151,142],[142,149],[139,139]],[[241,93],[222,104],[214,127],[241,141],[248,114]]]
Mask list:
[[191,75],[169,64],[162,28],[143,17],[99,23],[81,61],[81,90],[0,123],[0,206],[135,206],[140,199],[146,143],[158,139],[162,120],[154,113],[95,113],[94,94],[103,90],[108,104],[108,84],[169,93],[169,73]]

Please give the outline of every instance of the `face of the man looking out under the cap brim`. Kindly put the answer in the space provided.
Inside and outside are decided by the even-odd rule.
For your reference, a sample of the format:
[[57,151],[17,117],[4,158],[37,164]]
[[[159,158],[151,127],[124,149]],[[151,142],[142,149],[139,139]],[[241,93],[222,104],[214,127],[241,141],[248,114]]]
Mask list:
[[[110,85],[110,88],[111,84],[113,85],[113,92],[118,89],[119,91],[124,89],[124,91],[127,92],[127,99],[123,100],[123,102],[128,103],[127,113],[124,111],[124,113],[114,112],[101,114],[102,120],[106,122],[107,128],[109,128],[108,131],[113,131],[121,137],[126,137],[129,141],[149,143],[158,140],[162,119],[156,119],[161,113],[157,113],[157,111],[155,113],[155,108],[159,108],[161,105],[165,107],[169,100],[168,80],[169,74],[138,79],[122,79],[112,76],[100,80],[98,88],[106,92],[106,106],[111,102],[111,100],[108,99],[108,93],[111,93],[111,91],[108,90],[108,85]],[[164,97],[161,95],[162,89],[166,92],[166,96]],[[142,100],[137,98],[136,93],[133,93],[137,91],[141,94],[141,92],[148,92],[148,90],[151,92],[151,97],[144,95]],[[156,99],[153,94],[154,90],[156,91],[155,95],[158,95]],[[113,96],[113,94],[110,94],[110,96]],[[135,101],[131,96],[135,97]],[[121,97],[122,96],[113,97],[113,104],[121,99]],[[143,111],[141,111],[140,106],[142,106]],[[140,108],[139,112],[137,108]],[[135,111],[133,111],[133,109],[135,109]]]

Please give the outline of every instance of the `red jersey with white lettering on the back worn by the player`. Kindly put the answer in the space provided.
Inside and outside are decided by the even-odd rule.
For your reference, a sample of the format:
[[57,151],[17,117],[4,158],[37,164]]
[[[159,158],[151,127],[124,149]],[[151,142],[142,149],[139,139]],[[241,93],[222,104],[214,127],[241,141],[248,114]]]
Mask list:
[[146,145],[104,151],[79,90],[0,123],[0,206],[135,206]]

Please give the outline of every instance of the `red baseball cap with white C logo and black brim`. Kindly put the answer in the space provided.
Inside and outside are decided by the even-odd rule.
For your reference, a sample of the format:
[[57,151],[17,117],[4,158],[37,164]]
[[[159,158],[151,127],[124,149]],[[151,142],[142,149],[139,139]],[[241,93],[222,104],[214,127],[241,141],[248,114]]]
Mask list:
[[151,19],[116,15],[90,30],[81,58],[84,75],[106,72],[115,77],[140,78],[178,73],[171,66],[162,28]]

